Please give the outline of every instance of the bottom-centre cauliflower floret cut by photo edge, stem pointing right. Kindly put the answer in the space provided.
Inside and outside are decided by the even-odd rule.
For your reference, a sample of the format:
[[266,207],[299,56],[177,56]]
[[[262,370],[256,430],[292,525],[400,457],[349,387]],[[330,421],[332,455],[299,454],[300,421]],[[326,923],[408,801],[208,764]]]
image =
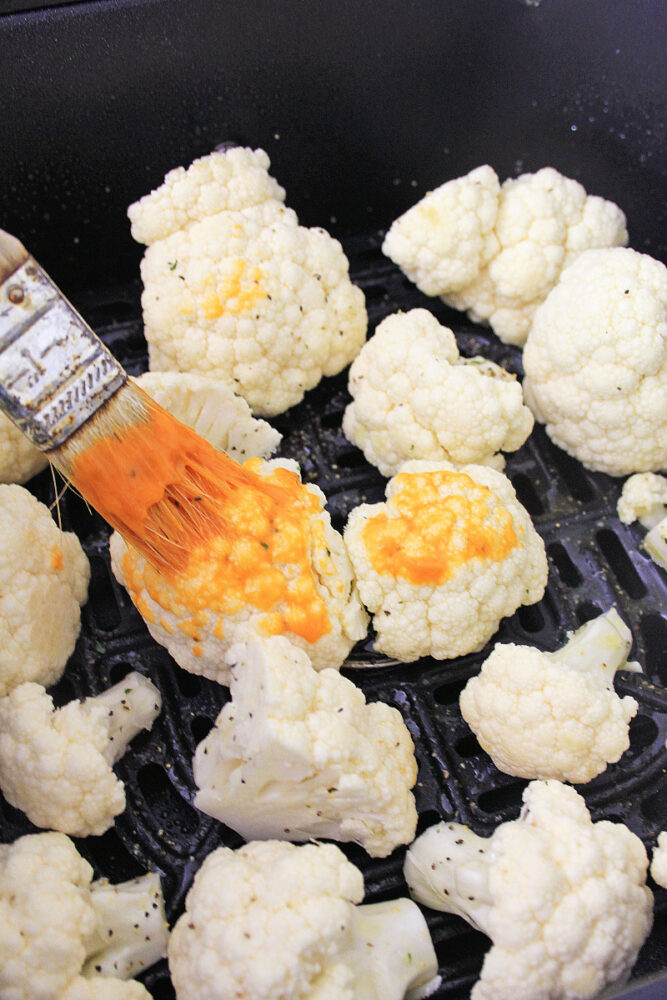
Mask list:
[[178,1000],[418,1000],[440,984],[410,899],[358,906],[361,872],[333,844],[220,847],[169,940]]

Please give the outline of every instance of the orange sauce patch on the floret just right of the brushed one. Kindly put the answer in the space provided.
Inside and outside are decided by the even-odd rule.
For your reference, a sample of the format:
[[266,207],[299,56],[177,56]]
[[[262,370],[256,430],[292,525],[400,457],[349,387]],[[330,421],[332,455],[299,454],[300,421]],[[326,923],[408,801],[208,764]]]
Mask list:
[[382,512],[362,532],[383,576],[438,586],[472,559],[499,561],[520,544],[509,511],[466,473],[399,473],[396,482],[398,516]]

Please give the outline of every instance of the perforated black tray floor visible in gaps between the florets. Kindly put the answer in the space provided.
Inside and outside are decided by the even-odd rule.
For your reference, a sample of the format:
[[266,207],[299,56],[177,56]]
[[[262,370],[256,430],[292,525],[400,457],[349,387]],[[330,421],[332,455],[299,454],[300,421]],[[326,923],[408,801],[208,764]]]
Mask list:
[[[382,234],[374,233],[345,244],[352,278],[366,294],[369,333],[390,312],[424,306],[454,329],[463,354],[481,353],[521,373],[520,351],[422,296],[383,257],[381,239]],[[123,289],[114,297],[90,296],[77,305],[132,374],[145,369],[138,287]],[[280,454],[297,459],[304,479],[323,489],[339,529],[352,507],[382,499],[385,485],[342,435],[341,419],[349,399],[346,384],[346,373],[325,380],[301,405],[272,421],[283,434]],[[622,525],[616,517],[621,481],[587,472],[555,448],[541,428],[508,457],[506,471],[544,538],[550,572],[542,601],[506,619],[492,641],[555,649],[567,630],[616,605],[634,635],[631,656],[644,669],[643,675],[620,672],[616,688],[632,694],[639,711],[622,760],[579,790],[594,819],[626,823],[651,850],[657,833],[667,828],[667,574],[642,551],[643,530]],[[29,486],[40,499],[52,502],[48,471]],[[228,698],[227,689],[181,670],[150,638],[112,577],[104,522],[72,494],[64,496],[60,508],[63,526],[76,530],[85,546],[92,579],[80,640],[63,679],[53,689],[56,703],[97,692],[135,669],[152,678],[164,699],[152,732],[139,736],[117,766],[126,784],[126,811],[108,833],[79,840],[77,846],[96,871],[112,881],[157,869],[173,922],[204,857],[222,844],[242,843],[238,835],[192,805],[191,758]],[[373,667],[350,670],[349,676],[369,700],[395,705],[413,735],[419,762],[415,789],[419,832],[441,818],[454,818],[488,835],[498,823],[515,818],[526,782],[494,768],[458,709],[458,695],[488,649],[444,663],[427,659],[404,666],[375,654],[371,642],[359,644],[351,661]],[[0,824],[3,841],[34,832],[25,817],[1,798]],[[373,860],[360,848],[341,846],[364,872],[367,901],[406,894],[401,874],[404,849]],[[657,975],[650,996],[659,998],[667,996],[667,893],[650,884],[656,893],[655,925],[627,995],[636,981]],[[464,1000],[479,975],[489,941],[456,917],[424,912],[443,977],[436,996]],[[156,1000],[173,998],[166,962],[146,973],[144,982]]]

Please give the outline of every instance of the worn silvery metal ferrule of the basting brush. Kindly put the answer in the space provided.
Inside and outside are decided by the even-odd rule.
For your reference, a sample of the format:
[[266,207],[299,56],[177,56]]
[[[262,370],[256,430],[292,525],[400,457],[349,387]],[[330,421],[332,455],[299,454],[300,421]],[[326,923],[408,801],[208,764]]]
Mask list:
[[32,257],[0,286],[0,408],[42,451],[64,444],[126,379]]

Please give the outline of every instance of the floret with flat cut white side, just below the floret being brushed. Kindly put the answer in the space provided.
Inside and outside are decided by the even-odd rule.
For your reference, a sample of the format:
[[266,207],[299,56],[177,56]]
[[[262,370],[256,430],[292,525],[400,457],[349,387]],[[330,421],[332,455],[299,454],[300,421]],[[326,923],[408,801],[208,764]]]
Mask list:
[[232,647],[228,702],[193,761],[195,805],[245,840],[355,841],[386,857],[415,835],[412,737],[284,636]]

